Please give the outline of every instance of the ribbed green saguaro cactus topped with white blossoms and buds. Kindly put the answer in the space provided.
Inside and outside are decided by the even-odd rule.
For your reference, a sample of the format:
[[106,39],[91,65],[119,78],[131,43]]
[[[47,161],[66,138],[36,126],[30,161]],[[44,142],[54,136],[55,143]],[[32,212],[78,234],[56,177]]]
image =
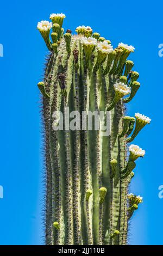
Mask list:
[[145,155],[132,144],[127,156],[128,143],[151,121],[139,113],[125,115],[125,104],[140,87],[139,74],[131,71],[134,63],[127,60],[134,47],[120,43],[114,49],[85,26],[76,28],[77,35],[70,29],[64,34],[64,18],[51,14],[52,23],[37,25],[51,51],[44,81],[38,83],[45,127],[46,244],[126,245],[129,218],[142,202],[128,195],[128,184],[136,159]]

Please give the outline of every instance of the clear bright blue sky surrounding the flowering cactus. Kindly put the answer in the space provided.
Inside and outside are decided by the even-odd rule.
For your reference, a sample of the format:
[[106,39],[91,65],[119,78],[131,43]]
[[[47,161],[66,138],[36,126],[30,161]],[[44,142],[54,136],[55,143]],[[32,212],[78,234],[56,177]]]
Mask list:
[[43,74],[47,48],[36,31],[37,22],[49,14],[66,14],[65,29],[74,32],[78,25],[91,26],[111,40],[135,46],[131,59],[140,73],[141,88],[128,104],[128,113],[148,115],[152,123],[134,143],[146,149],[137,161],[130,191],[143,197],[143,204],[130,222],[130,243],[161,245],[163,199],[162,169],[162,91],[163,43],[162,1],[3,1],[0,15],[1,86],[1,162],[0,244],[41,244],[42,162],[41,124],[37,82]]

